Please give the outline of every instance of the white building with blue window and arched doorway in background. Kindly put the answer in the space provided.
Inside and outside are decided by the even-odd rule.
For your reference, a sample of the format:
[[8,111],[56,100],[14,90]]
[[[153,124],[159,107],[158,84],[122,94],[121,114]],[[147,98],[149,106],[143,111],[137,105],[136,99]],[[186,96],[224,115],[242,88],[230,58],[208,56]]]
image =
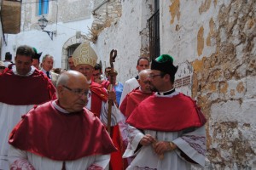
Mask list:
[[[2,59],[6,52],[10,52],[14,60],[16,49],[20,45],[29,45],[36,48],[38,53],[43,52],[41,59],[45,54],[52,55],[54,68],[67,69],[68,55],[85,41],[84,37],[88,34],[93,21],[92,8],[93,2],[86,0],[23,0],[20,33],[4,35]],[[52,40],[38,25],[43,15],[49,21],[44,31],[53,33]]]

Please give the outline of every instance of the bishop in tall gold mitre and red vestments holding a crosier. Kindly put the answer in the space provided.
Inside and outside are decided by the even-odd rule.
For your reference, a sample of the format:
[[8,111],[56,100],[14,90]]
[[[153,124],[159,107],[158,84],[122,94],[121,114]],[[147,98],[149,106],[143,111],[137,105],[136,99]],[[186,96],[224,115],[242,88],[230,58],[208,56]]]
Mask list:
[[[108,125],[108,99],[115,100],[114,92],[108,93],[106,88],[102,85],[93,81],[93,71],[94,65],[96,65],[97,55],[93,48],[90,47],[89,42],[84,42],[79,45],[78,48],[73,52],[73,63],[75,65],[76,71],[81,72],[87,78],[90,83],[89,90],[89,102],[86,108],[98,116],[104,125]],[[113,144],[118,148],[117,151],[111,154],[110,159],[110,169],[111,170],[121,170],[123,169],[122,154],[120,151],[120,142],[117,135],[119,133],[118,122],[123,119],[119,112],[119,109],[114,104],[111,111],[111,127],[113,132],[111,137],[113,139]]]

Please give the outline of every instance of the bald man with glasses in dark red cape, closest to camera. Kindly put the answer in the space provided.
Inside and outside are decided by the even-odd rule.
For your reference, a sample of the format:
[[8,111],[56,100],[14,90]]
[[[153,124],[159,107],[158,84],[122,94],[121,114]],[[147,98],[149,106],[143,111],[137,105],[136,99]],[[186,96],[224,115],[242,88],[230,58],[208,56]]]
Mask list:
[[102,122],[84,108],[88,81],[66,71],[56,88],[58,99],[34,107],[10,134],[10,168],[105,169],[116,149]]

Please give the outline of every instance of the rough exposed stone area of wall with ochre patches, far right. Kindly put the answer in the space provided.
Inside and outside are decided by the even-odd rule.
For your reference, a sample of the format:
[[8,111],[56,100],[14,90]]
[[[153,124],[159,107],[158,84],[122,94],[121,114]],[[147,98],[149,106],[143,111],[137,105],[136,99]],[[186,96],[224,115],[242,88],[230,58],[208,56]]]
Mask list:
[[256,168],[255,9],[255,1],[223,4],[217,20],[209,20],[207,37],[203,26],[198,31],[198,54],[205,45],[216,46],[192,62],[192,94],[207,114],[207,157],[214,169]]

